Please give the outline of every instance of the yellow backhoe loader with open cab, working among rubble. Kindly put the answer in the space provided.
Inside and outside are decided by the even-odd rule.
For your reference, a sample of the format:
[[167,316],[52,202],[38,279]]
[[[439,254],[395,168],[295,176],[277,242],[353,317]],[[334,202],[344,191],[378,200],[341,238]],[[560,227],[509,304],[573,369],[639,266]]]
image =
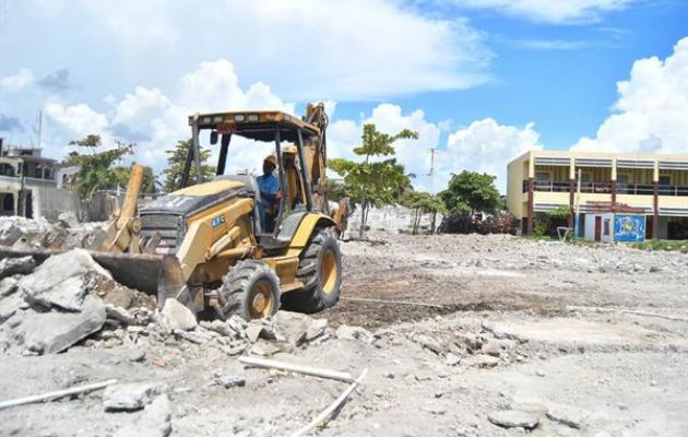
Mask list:
[[[142,174],[134,165],[124,204],[91,251],[93,258],[119,282],[156,294],[161,307],[175,298],[195,314],[252,319],[281,306],[317,312],[335,305],[342,285],[337,235],[346,202],[329,210],[327,125],[322,104],[308,105],[303,118],[258,110],[189,117],[191,147],[179,189],[137,213]],[[220,142],[211,181],[203,181],[201,172],[205,135],[211,145]],[[269,201],[261,199],[254,176],[225,175],[228,157],[246,152],[230,154],[234,137],[274,144],[278,193],[265,194]],[[272,228],[261,220],[266,203]],[[32,255],[40,262],[52,252]],[[0,258],[25,253],[0,248]]]

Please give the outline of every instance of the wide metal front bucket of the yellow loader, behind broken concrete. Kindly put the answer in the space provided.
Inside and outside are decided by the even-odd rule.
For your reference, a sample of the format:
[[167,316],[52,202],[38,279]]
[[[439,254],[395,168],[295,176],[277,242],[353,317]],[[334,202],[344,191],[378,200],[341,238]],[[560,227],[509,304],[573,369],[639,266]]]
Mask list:
[[[40,264],[63,249],[17,250],[0,246],[0,259],[31,256]],[[118,253],[88,250],[91,257],[112,273],[115,281],[157,296],[158,305],[167,297],[176,298],[186,286],[179,260],[174,255]]]

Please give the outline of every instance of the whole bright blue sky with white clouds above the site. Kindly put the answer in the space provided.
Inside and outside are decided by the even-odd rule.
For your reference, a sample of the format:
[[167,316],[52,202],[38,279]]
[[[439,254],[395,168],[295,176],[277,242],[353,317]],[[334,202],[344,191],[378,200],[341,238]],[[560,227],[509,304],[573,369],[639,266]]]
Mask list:
[[36,143],[43,110],[47,155],[94,132],[159,170],[190,113],[323,99],[334,156],[361,122],[418,130],[399,155],[420,189],[463,168],[503,189],[506,163],[536,147],[688,152],[685,1],[197,4],[0,0],[0,135]]

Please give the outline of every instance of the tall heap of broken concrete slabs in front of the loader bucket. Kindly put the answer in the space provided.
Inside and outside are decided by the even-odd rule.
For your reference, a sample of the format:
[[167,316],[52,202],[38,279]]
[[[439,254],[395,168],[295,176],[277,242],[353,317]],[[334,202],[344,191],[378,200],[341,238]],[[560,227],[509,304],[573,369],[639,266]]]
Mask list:
[[[137,305],[140,305],[137,307]],[[0,261],[0,353],[50,354],[121,323],[146,324],[154,300],[115,282],[84,249]]]

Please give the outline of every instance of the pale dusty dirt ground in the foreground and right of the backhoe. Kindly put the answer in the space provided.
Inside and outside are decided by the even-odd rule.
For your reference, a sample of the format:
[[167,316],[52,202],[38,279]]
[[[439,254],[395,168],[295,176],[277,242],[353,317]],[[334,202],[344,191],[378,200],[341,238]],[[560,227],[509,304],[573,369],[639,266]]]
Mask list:
[[[370,333],[272,356],[369,369],[312,435],[688,435],[688,255],[510,236],[371,237],[342,244],[342,300],[315,316]],[[132,350],[145,359],[126,359]],[[212,386],[216,373],[241,374],[246,387]],[[346,387],[245,369],[213,345],[131,334],[3,356],[0,375],[2,399],[107,378],[164,381],[173,436],[290,435]],[[2,410],[0,435],[108,436],[144,414],[106,413],[100,394]],[[498,426],[503,412],[537,424]]]

